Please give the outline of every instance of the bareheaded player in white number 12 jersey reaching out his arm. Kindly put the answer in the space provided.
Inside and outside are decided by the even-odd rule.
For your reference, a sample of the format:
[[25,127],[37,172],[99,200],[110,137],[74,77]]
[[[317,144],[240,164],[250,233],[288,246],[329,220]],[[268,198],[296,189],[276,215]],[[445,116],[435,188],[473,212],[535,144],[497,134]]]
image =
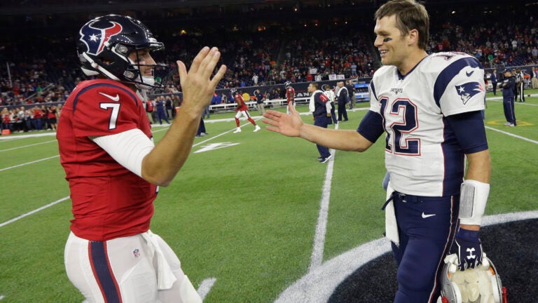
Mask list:
[[354,152],[385,133],[385,224],[399,264],[394,302],[436,302],[448,253],[457,253],[461,270],[481,263],[478,230],[490,191],[483,69],[463,53],[426,53],[429,17],[415,0],[381,6],[374,33],[383,66],[356,131],[305,124],[294,110],[268,111],[263,122],[283,135]]

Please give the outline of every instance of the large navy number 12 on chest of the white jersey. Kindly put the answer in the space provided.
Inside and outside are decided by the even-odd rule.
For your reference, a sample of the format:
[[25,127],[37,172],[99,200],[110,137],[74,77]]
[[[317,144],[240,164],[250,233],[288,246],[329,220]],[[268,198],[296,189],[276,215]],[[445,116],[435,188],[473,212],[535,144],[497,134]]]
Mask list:
[[391,154],[420,156],[420,138],[411,136],[411,133],[418,129],[417,106],[407,98],[394,99],[388,110],[388,97],[382,97],[380,103],[383,125],[385,115],[399,116],[399,121],[388,126],[389,129],[385,126],[385,150]]

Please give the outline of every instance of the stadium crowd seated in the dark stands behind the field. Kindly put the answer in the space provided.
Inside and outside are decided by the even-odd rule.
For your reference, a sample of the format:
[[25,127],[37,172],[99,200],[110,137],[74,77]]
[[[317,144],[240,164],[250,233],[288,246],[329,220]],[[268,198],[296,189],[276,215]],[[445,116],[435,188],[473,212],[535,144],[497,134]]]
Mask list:
[[[465,13],[432,15],[432,20],[438,17],[446,21],[432,21],[428,51],[469,53],[485,68],[538,64],[538,20],[532,9],[511,8],[499,10],[497,15],[495,12],[478,15],[481,17],[467,18]],[[499,15],[502,20],[497,18]],[[222,62],[228,66],[217,88],[320,81],[336,74],[343,74],[346,79],[368,78],[380,65],[369,22],[373,21],[296,27],[287,24],[251,31],[233,29],[226,36],[207,27],[191,32],[170,28],[157,32],[156,29],[158,39],[167,48],[163,58],[158,58],[167,68],[157,72],[165,90],[156,93],[181,91],[175,59],[191,62],[193,52],[209,41],[219,46]],[[76,38],[66,41],[41,36],[0,44],[0,60],[6,61],[6,68],[0,69],[3,129],[50,128],[48,118],[43,118],[48,116],[48,107],[61,105],[76,84],[85,79],[74,52]],[[64,55],[58,55],[59,50]],[[273,95],[280,97],[277,92]],[[40,119],[41,124],[35,122]]]

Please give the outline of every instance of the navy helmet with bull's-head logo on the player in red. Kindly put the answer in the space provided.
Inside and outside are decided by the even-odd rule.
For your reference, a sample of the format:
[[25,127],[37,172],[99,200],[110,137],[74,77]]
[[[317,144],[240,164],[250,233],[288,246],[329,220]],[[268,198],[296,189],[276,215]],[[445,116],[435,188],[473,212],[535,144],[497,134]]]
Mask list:
[[139,67],[149,65],[128,58],[135,50],[164,48],[139,20],[124,15],[104,15],[90,20],[79,33],[76,49],[87,76],[102,74],[112,80],[135,83],[137,88],[145,90],[161,87],[160,83],[155,83],[154,76],[141,76]]

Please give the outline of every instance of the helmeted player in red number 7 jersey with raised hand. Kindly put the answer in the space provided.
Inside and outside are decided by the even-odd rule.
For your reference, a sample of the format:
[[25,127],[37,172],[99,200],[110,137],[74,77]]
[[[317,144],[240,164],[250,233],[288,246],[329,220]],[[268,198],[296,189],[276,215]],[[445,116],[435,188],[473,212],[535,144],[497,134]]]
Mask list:
[[202,48],[187,72],[177,61],[184,101],[165,137],[153,144],[142,100],[155,83],[151,51],[162,49],[142,22],[105,15],[80,30],[85,74],[57,128],[71,191],[64,262],[85,302],[202,302],[181,263],[151,233],[158,186],[170,184],[191,152],[202,112],[226,67],[212,77],[217,48]]

